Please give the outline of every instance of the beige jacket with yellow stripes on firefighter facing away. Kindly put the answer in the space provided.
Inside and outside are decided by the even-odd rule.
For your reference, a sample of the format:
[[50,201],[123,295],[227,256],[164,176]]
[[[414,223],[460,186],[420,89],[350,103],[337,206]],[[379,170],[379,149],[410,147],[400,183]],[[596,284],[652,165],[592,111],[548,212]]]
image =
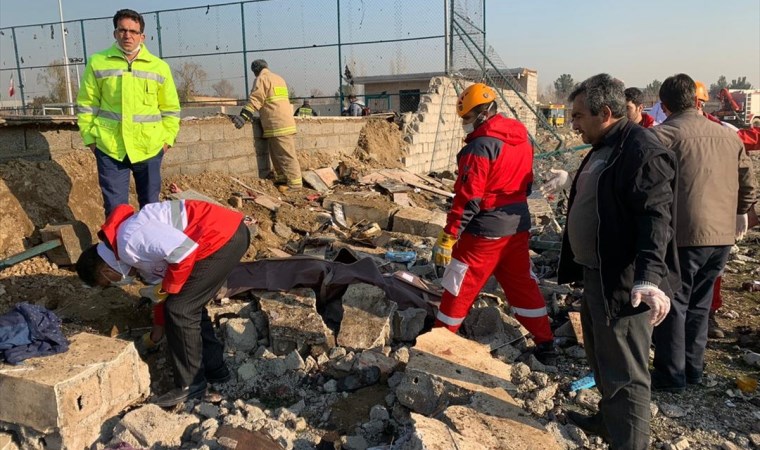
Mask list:
[[259,112],[265,138],[296,134],[288,85],[269,69],[263,69],[256,77],[248,103],[243,108],[251,113]]

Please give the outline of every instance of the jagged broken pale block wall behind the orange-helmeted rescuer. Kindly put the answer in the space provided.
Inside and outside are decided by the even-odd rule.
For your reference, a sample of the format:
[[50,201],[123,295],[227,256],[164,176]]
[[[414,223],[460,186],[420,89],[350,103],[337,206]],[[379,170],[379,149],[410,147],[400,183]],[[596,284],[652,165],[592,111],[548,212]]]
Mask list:
[[[420,98],[417,113],[402,116],[404,139],[409,143],[408,154],[404,159],[407,169],[414,173],[452,170],[456,164],[456,154],[462,148],[464,131],[462,121],[456,113],[456,102],[464,83],[455,88],[454,81],[448,77],[435,77],[430,80],[428,93]],[[536,118],[513,91],[504,90],[507,101],[515,108],[517,119],[536,133]],[[529,96],[530,98],[530,96]],[[535,101],[535,98],[532,99]],[[515,115],[499,100],[499,110],[508,117]]]

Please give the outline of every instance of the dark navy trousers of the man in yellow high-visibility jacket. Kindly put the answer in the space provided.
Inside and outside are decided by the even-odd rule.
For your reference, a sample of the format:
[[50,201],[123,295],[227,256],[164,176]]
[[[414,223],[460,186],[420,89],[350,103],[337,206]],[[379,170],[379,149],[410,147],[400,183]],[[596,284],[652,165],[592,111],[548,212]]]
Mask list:
[[106,217],[117,206],[129,203],[129,174],[135,177],[135,190],[140,208],[148,203],[156,203],[161,192],[161,160],[164,151],[145,161],[132,163],[129,156],[124,161],[111,158],[100,150],[95,150],[98,163],[98,183],[103,193],[103,207]]

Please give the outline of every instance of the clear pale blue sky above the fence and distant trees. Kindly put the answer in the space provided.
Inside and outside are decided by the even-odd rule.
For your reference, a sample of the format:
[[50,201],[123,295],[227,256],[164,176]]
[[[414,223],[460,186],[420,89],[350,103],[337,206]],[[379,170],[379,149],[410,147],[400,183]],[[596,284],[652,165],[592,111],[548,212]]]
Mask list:
[[[480,3],[480,0],[459,1],[474,7]],[[63,0],[63,8],[64,20],[73,20],[111,16],[119,8],[144,12],[219,3],[226,2]],[[342,39],[345,42],[442,34],[443,3],[443,0],[341,0]],[[542,87],[562,73],[581,81],[599,72],[608,72],[628,86],[643,87],[653,79],[662,81],[674,73],[685,72],[708,85],[725,75],[729,81],[747,76],[753,87],[760,87],[760,0],[487,0],[486,4],[488,42],[508,66],[537,69]],[[247,48],[334,42],[337,28],[334,5],[334,0],[249,4],[246,8],[255,20],[246,24]],[[198,22],[202,26],[185,20],[186,16],[162,15],[164,54],[236,50],[228,41],[241,41],[240,23],[234,18],[240,8],[218,10],[216,18],[201,17],[205,11],[196,10],[198,20],[203,20]],[[374,20],[375,17],[382,19]],[[57,0],[0,0],[0,28],[57,20]],[[87,53],[101,50],[110,42],[107,21],[85,24]],[[149,23],[148,27],[151,26],[154,24]],[[50,35],[59,30],[23,30],[19,42],[24,43],[24,48],[20,53],[27,58],[36,57],[40,64],[45,64],[61,53],[50,41]],[[100,40],[90,43],[93,35],[100,36]],[[43,36],[48,38],[47,43]],[[149,37],[147,44],[155,53],[154,38]],[[183,44],[171,43],[175,41]],[[0,36],[0,68],[15,66],[12,47],[7,42],[7,36]],[[83,53],[84,49],[73,47],[69,48],[69,56]],[[280,72],[298,73],[291,75],[292,82],[300,88],[300,94],[306,95],[314,86],[334,92],[339,71],[335,53],[334,48],[327,48],[272,52],[264,57],[270,60],[270,65],[272,59],[279,59]],[[356,46],[344,48],[343,64],[356,61],[358,75],[388,73],[393,64],[400,72],[431,71],[442,70],[442,55],[439,42]],[[244,70],[238,67],[239,59],[239,55],[217,55],[197,61],[211,67],[209,85],[226,78],[242,90]],[[33,71],[29,72],[25,76],[33,78]],[[0,86],[7,85],[9,73],[0,72]],[[27,84],[32,89],[30,80]]]

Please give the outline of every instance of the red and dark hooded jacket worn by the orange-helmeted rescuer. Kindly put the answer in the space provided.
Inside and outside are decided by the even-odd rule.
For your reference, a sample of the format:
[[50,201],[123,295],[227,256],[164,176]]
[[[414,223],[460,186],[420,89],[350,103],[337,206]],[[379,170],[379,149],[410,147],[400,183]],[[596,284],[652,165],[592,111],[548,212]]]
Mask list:
[[465,139],[459,176],[444,231],[485,237],[530,229],[527,197],[533,183],[533,146],[522,123],[497,114]]

